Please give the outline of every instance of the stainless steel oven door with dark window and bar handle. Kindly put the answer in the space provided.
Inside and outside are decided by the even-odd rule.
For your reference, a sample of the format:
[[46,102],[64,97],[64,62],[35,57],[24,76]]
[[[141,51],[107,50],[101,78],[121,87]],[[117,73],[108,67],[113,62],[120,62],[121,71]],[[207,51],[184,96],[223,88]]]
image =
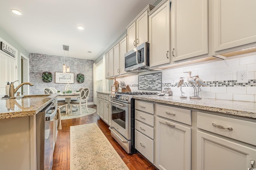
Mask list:
[[111,126],[127,140],[131,140],[130,104],[110,100]]

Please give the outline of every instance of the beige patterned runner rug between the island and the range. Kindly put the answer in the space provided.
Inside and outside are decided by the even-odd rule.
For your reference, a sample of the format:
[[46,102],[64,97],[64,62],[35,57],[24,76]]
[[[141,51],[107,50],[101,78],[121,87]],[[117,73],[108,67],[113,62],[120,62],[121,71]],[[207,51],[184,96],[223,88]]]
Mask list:
[[70,170],[129,170],[96,123],[70,126]]

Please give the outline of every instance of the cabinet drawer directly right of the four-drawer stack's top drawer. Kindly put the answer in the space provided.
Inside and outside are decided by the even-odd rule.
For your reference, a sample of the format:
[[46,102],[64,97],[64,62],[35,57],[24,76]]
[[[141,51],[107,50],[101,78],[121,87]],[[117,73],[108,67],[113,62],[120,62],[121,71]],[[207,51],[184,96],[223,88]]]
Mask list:
[[156,104],[156,115],[191,125],[191,111],[188,109]]

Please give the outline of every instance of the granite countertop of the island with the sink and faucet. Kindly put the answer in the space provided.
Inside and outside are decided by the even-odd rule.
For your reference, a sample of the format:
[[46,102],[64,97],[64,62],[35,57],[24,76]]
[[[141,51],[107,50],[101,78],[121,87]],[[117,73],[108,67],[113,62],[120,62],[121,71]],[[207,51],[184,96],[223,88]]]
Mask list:
[[[59,94],[20,99],[0,99],[0,119],[31,116],[38,113]],[[1,97],[2,98],[2,97]]]

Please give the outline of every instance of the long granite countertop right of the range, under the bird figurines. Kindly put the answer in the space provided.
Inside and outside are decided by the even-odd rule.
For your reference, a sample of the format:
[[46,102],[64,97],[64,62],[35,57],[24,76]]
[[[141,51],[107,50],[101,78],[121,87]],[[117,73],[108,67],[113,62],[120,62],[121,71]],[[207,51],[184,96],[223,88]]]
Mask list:
[[214,111],[236,115],[240,117],[249,117],[256,119],[256,104],[255,102],[240,102],[233,100],[217,100],[217,99],[180,99],[179,96],[134,96],[134,99],[146,100],[162,104],[170,104],[174,106],[183,106],[194,109]]

